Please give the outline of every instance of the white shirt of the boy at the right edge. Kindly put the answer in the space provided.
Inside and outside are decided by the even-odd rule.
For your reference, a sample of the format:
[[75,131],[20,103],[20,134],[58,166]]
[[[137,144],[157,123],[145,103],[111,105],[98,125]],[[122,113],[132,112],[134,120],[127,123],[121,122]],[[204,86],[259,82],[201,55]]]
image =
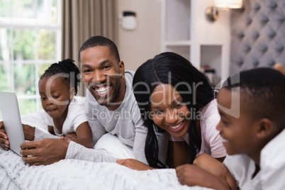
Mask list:
[[260,171],[252,179],[255,162],[247,155],[227,156],[224,164],[238,181],[240,189],[285,189],[285,130],[261,151]]

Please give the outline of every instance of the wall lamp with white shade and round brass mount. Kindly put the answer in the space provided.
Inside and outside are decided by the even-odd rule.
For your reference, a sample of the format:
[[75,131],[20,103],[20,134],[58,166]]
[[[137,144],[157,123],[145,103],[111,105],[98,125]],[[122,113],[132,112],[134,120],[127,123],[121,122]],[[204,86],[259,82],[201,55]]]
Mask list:
[[214,6],[209,6],[206,9],[206,18],[208,21],[216,21],[218,11],[228,11],[229,9],[242,8],[242,0],[215,0]]

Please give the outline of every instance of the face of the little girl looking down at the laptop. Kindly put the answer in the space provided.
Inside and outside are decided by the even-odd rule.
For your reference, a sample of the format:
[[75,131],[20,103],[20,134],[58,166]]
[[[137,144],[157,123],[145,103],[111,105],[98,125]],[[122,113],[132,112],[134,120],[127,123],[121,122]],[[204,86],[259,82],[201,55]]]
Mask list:
[[45,112],[53,119],[65,119],[74,88],[69,89],[69,84],[63,77],[48,77],[40,79],[38,89]]

